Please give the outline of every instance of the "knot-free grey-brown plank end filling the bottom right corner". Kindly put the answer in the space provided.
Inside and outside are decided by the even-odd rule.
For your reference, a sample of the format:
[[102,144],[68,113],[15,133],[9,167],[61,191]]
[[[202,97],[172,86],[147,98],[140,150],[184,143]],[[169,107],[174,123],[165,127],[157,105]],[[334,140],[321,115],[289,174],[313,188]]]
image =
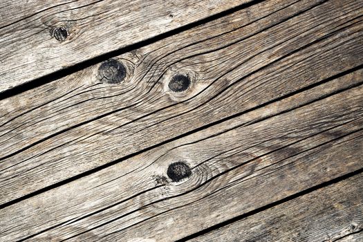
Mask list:
[[363,174],[190,241],[362,241]]

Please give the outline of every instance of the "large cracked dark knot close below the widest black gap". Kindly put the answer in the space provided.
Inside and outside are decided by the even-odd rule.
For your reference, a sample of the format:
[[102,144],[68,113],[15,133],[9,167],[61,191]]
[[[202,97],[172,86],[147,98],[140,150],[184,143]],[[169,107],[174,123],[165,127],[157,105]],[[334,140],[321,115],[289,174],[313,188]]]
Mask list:
[[118,84],[126,77],[126,68],[116,59],[108,59],[98,69],[101,81],[109,84]]

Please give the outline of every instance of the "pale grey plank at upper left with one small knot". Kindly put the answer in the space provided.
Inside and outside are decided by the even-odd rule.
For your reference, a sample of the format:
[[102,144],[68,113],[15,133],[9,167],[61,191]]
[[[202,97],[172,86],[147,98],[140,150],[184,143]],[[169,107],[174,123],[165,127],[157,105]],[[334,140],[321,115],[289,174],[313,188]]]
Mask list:
[[0,92],[248,2],[2,1]]

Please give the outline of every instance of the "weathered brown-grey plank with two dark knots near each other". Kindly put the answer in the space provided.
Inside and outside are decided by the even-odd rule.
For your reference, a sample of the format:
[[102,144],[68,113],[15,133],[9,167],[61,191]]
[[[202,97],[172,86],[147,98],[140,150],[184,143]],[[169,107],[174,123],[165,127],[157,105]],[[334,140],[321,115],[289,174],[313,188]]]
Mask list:
[[[362,65],[362,7],[263,1],[115,58],[120,84],[100,83],[97,64],[2,100],[0,203],[350,72]],[[168,90],[176,73],[191,77],[187,91]],[[346,78],[338,89],[362,73]]]

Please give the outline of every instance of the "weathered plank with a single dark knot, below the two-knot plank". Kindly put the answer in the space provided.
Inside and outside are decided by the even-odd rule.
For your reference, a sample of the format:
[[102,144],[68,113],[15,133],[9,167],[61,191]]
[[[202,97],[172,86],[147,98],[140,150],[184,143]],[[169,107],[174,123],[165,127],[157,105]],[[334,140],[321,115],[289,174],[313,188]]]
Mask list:
[[[174,241],[362,169],[363,86],[310,99],[334,91],[337,83],[5,207],[1,239]],[[299,106],[301,100],[309,101]],[[268,118],[277,110],[285,111]],[[267,119],[250,122],[262,113]],[[181,180],[183,174],[171,169],[175,162],[190,167]]]

